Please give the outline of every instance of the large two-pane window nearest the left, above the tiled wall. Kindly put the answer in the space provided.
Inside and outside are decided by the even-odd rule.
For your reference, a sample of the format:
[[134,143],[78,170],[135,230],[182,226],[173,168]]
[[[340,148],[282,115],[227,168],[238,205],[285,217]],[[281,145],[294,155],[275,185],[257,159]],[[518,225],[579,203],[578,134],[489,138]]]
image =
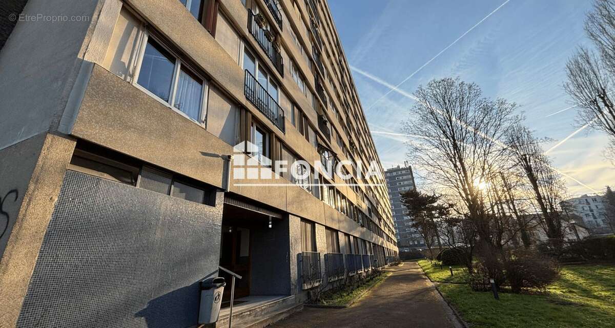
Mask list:
[[137,85],[192,121],[205,122],[205,80],[151,37],[143,51]]

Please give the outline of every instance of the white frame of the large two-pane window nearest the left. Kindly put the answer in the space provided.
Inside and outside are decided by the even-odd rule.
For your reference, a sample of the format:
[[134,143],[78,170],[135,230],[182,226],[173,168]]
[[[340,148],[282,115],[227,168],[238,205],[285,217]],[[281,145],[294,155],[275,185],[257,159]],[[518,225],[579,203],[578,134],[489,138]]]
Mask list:
[[[134,68],[135,73],[133,74],[133,78],[130,83],[133,86],[140,89],[141,91],[148,94],[150,97],[153,97],[154,99],[156,99],[158,102],[167,106],[167,108],[170,108],[171,110],[175,111],[178,114],[181,114],[182,116],[189,119],[190,121],[196,122],[197,124],[199,124],[199,126],[202,126],[205,129],[207,129],[207,103],[208,103],[208,98],[209,98],[209,81],[206,78],[204,78],[204,76],[200,74],[198,71],[192,69],[190,65],[183,62],[183,60],[181,60],[181,58],[177,54],[175,54],[175,52],[170,50],[169,47],[167,47],[164,44],[164,42],[161,42],[160,39],[149,34],[149,31],[143,28],[143,26],[141,26],[140,33],[142,34],[142,36],[140,38],[140,44],[137,46],[139,55],[138,55],[137,60],[135,61],[136,62],[136,65]],[[175,67],[173,68],[173,79],[171,81],[171,93],[169,95],[169,102],[166,102],[164,99],[158,97],[157,95],[153,94],[151,91],[146,89],[145,87],[138,84],[139,75],[141,73],[141,65],[143,65],[143,57],[145,56],[145,49],[147,47],[149,38],[152,38],[157,44],[159,44],[159,46],[163,47],[165,50],[167,50],[167,52],[169,52],[169,54],[175,57]],[[186,68],[188,68],[188,70],[191,71],[192,74],[198,76],[199,79],[202,81],[203,90],[202,90],[202,94],[200,97],[200,110],[199,110],[199,120],[198,121],[195,121],[194,119],[189,117],[186,113],[179,110],[178,108],[175,107],[175,105],[173,105],[173,103],[175,103],[175,96],[177,95],[177,84],[180,78],[182,65],[185,65]]]

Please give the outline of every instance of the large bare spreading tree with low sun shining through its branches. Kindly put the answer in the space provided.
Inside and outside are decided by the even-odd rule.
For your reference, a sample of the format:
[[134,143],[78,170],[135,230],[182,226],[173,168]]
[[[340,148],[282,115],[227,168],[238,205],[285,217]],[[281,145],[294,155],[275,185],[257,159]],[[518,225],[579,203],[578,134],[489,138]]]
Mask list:
[[515,121],[517,106],[484,98],[476,84],[451,78],[432,80],[415,96],[416,119],[408,121],[405,130],[419,135],[421,142],[410,144],[411,158],[426,171],[426,180],[440,186],[447,201],[467,213],[481,244],[492,246],[485,183],[506,166],[498,140]]

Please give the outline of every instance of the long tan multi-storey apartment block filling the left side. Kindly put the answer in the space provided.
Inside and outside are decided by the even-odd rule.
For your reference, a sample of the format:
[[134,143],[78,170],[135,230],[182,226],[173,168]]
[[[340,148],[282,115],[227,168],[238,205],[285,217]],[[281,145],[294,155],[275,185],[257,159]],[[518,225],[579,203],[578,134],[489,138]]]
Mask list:
[[0,326],[196,326],[221,266],[240,327],[397,257],[326,0],[9,2]]

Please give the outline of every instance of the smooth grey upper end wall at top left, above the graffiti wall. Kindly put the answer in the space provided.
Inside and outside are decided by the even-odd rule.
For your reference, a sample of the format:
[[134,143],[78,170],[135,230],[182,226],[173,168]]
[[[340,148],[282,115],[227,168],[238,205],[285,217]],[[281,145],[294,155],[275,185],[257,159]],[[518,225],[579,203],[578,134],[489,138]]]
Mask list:
[[50,130],[58,121],[100,6],[99,0],[28,1],[23,15],[49,19],[17,22],[0,51],[0,149]]

